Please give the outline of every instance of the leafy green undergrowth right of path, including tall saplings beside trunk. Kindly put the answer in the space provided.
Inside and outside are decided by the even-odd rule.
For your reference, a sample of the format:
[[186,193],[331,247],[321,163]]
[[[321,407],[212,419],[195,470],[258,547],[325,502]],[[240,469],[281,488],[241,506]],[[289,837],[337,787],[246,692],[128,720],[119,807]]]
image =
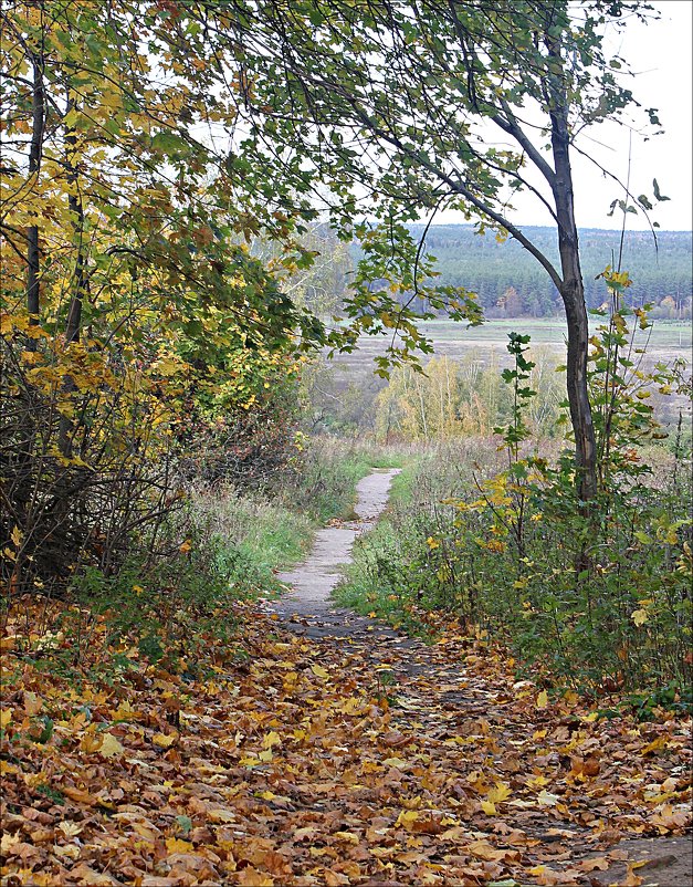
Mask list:
[[527,667],[581,689],[673,687],[680,698],[691,679],[691,463],[681,441],[673,453],[658,445],[648,392],[689,383],[680,366],[643,373],[628,343],[618,309],[592,352],[594,503],[577,499],[570,452],[528,451],[533,367],[526,337],[511,335],[514,406],[496,428],[506,467],[487,463],[482,474],[479,451],[464,455],[456,478],[439,472],[438,486],[364,540],[340,599],[395,619],[450,611],[503,637]]

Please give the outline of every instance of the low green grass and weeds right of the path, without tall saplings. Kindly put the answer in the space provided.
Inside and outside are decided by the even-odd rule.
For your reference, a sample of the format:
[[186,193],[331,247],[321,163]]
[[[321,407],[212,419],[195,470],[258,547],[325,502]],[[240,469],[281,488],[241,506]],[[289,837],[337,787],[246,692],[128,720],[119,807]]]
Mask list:
[[[548,461],[547,447],[557,445],[542,445]],[[595,528],[575,507],[569,476],[539,466],[517,480],[492,439],[450,445],[400,476],[336,599],[424,635],[452,614],[491,630],[524,668],[585,691],[682,700],[691,463],[652,443],[639,456],[652,473],[613,493]]]

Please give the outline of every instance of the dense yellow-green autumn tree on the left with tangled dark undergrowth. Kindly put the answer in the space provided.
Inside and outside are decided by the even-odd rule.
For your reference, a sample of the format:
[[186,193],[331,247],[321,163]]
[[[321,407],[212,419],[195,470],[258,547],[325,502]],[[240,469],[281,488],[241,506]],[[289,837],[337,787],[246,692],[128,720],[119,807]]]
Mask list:
[[[253,406],[322,326],[280,285],[315,210],[214,133],[240,88],[185,4],[0,10],[4,586],[109,571],[176,500],[200,418]],[[275,244],[263,264],[250,242]],[[41,582],[40,578],[36,578]]]

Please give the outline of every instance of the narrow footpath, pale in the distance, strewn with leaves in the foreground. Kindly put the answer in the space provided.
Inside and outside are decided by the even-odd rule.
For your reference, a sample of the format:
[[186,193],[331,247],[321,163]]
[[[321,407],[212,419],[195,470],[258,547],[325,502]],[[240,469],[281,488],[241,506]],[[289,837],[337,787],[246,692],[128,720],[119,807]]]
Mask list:
[[[370,692],[388,710],[381,784],[389,804],[400,785],[409,848],[392,842],[379,856],[388,875],[354,883],[690,887],[691,839],[673,836],[683,824],[675,802],[685,797],[690,738],[596,722],[577,702],[547,702],[531,681],[515,681],[513,662],[490,643],[453,636],[426,645],[332,601],[397,473],[375,469],[359,482],[357,519],[321,530],[305,563],[280,574],[290,591],[269,605],[277,628],[315,645],[318,661],[340,660],[345,680],[370,674]],[[344,815],[345,801],[324,797],[319,816]],[[437,846],[441,837],[460,842],[456,853]],[[340,872],[334,883],[351,883],[347,863]]]

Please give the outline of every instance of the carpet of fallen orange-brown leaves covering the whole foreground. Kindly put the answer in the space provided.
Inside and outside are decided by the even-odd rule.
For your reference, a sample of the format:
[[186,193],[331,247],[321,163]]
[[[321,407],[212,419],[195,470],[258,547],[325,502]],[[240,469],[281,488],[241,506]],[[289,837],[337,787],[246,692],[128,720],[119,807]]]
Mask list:
[[311,581],[166,665],[99,669],[96,626],[69,678],[31,604],[10,617],[3,887],[690,887],[690,720],[601,718],[483,636],[427,646]]

